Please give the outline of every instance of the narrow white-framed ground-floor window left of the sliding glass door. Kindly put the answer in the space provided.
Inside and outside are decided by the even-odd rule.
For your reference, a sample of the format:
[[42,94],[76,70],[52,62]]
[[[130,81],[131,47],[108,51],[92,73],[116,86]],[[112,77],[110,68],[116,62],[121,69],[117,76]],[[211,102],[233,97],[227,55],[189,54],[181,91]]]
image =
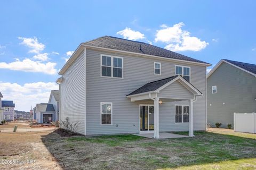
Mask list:
[[112,103],[111,102],[100,103],[100,124],[112,125]]

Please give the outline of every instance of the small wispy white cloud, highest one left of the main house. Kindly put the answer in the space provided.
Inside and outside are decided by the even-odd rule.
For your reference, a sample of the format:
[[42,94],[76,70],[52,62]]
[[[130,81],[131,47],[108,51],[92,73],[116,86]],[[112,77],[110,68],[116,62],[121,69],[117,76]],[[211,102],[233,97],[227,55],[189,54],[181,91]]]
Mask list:
[[42,50],[44,50],[45,45],[42,43],[39,43],[37,38],[24,38],[24,37],[18,37],[18,39],[21,39],[22,42],[20,44],[25,45],[29,48],[29,53],[40,53]]

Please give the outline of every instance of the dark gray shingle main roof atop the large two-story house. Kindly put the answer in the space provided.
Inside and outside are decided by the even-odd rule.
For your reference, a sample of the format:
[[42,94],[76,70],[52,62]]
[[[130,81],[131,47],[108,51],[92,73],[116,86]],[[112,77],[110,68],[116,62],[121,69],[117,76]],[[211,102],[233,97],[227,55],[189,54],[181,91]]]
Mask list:
[[203,61],[196,60],[194,58],[187,57],[185,55],[174,53],[170,50],[167,50],[161,47],[153,46],[153,45],[142,43],[139,41],[132,41],[132,40],[111,37],[111,36],[100,37],[91,41],[87,41],[83,44],[96,46],[96,47],[123,50],[126,52],[148,54],[148,55],[154,55],[154,56],[165,57],[165,58],[173,58],[177,60],[185,60],[190,62],[209,64]]

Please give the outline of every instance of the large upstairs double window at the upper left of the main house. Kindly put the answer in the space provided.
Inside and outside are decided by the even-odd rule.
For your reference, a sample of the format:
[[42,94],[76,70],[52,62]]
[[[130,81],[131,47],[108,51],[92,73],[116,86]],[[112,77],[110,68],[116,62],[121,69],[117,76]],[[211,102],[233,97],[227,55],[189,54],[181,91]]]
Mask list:
[[101,76],[123,78],[123,58],[101,55]]

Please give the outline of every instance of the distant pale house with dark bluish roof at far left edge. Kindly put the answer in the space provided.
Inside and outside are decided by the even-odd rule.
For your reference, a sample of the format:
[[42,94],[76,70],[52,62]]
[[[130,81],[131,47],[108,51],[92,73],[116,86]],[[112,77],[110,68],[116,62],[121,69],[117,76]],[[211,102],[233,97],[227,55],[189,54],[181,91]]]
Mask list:
[[3,117],[6,121],[14,121],[14,108],[13,101],[2,100],[2,108],[4,109]]

